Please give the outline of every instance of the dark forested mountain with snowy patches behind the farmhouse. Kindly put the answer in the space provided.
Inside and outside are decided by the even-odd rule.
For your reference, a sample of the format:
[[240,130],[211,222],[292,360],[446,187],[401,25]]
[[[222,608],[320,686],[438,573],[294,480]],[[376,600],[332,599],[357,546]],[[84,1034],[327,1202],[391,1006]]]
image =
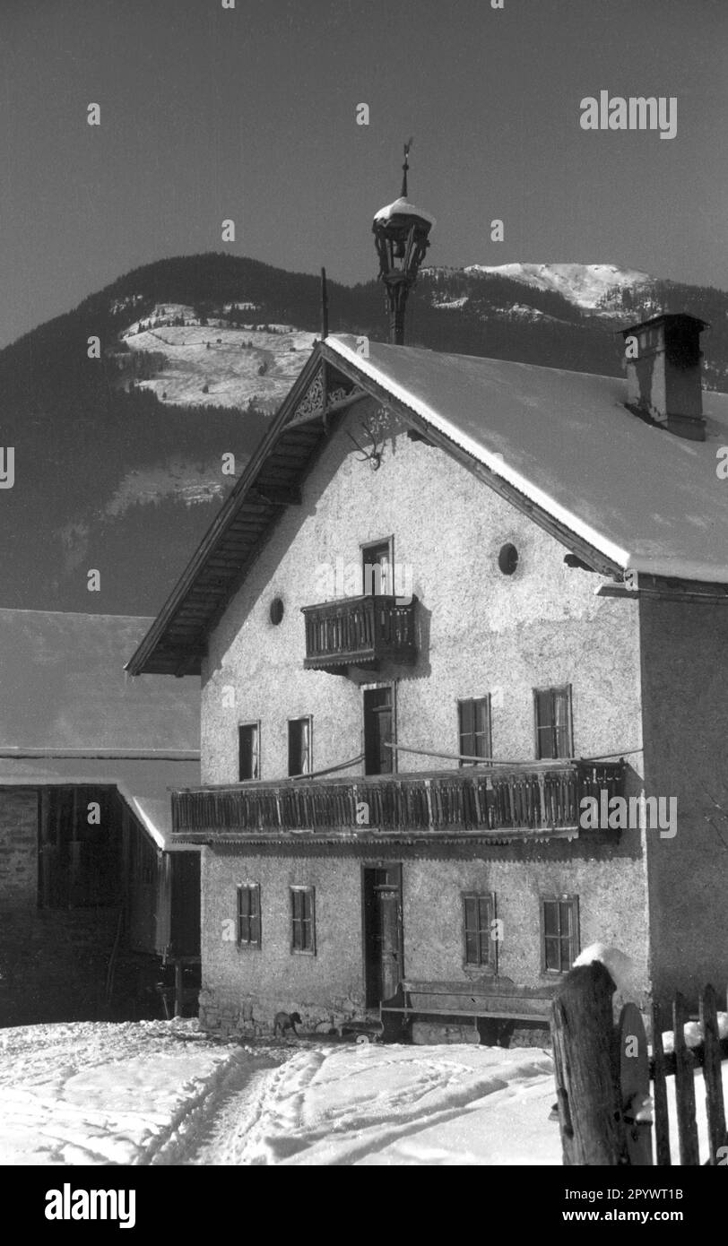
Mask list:
[[[332,331],[385,338],[378,282],[330,282],[329,305]],[[319,307],[318,277],[180,257],[0,351],[2,445],[15,449],[0,606],[155,613],[307,359]],[[728,294],[615,264],[425,268],[406,331],[433,350],[618,375],[618,328],[658,310],[711,323],[706,380],[728,389]]]

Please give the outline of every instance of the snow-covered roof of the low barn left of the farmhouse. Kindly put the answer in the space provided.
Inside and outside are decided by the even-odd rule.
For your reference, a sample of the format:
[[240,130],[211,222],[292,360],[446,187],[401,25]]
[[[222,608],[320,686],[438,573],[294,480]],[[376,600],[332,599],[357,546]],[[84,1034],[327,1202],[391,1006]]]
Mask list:
[[0,609],[0,787],[115,785],[157,846],[199,781],[196,680],[130,679],[152,619]]

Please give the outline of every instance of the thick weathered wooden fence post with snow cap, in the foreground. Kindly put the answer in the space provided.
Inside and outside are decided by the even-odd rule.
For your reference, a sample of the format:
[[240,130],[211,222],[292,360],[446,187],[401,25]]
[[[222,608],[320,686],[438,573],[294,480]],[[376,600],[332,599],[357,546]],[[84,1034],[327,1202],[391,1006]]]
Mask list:
[[563,981],[551,1033],[565,1165],[630,1164],[612,1019],[615,983],[600,961]]

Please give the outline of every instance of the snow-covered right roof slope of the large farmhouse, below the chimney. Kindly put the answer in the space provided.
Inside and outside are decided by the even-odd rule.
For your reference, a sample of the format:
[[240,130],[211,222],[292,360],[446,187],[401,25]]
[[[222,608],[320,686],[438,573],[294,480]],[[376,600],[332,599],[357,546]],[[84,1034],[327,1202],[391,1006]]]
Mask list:
[[626,381],[330,335],[327,348],[622,568],[728,583],[728,395],[707,441],[625,407]]

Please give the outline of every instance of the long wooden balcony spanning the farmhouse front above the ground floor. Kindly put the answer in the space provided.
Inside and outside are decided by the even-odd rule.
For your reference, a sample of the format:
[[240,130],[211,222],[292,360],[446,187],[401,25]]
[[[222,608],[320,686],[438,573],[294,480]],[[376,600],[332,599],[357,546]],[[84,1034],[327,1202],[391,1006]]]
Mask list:
[[532,761],[348,779],[287,779],[172,795],[188,842],[251,840],[429,842],[615,837],[580,827],[583,796],[623,795],[625,764]]

